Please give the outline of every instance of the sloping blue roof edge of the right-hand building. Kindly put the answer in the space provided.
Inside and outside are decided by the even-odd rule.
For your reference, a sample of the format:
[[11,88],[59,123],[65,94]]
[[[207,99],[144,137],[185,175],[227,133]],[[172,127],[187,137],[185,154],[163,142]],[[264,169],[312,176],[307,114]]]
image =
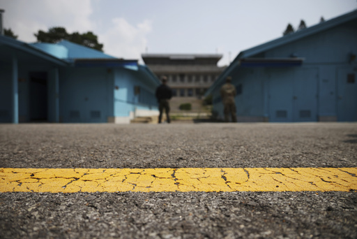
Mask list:
[[261,44],[261,45],[257,45],[253,48],[249,48],[248,50],[243,50],[241,51],[236,58],[234,59],[234,61],[231,62],[231,64],[229,64],[229,66],[225,69],[225,71],[223,71],[220,76],[218,77],[218,79],[213,83],[213,85],[211,85],[211,87],[207,90],[205,96],[207,96],[208,94],[211,94],[213,92],[213,90],[222,85],[223,82],[225,82],[225,78],[227,78],[227,76],[234,71],[234,69],[236,67],[238,67],[239,61],[242,58],[246,58],[246,57],[254,57],[255,55],[258,55],[259,53],[262,52],[266,52],[267,50],[271,50],[273,48],[277,48],[281,45],[285,45],[287,43],[291,43],[294,41],[298,41],[301,38],[305,38],[307,36],[312,36],[314,34],[317,34],[321,31],[326,31],[327,29],[331,29],[333,27],[336,27],[340,24],[344,24],[345,22],[349,22],[351,20],[356,20],[357,19],[357,10],[354,10],[350,13],[341,15],[339,17],[335,17],[331,20],[328,20],[326,22],[321,22],[319,24],[316,24],[312,27],[308,27],[306,29],[302,29],[300,31],[296,31],[292,34],[288,34],[286,36],[282,36],[280,38],[277,38],[273,41],[268,41],[267,43]]

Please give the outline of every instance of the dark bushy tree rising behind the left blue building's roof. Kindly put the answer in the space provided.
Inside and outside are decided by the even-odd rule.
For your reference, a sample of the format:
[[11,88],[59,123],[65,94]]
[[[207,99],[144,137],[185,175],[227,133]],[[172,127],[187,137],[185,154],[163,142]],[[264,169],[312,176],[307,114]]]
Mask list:
[[64,27],[52,27],[47,32],[39,30],[34,35],[39,43],[58,43],[67,40],[100,51],[103,48],[103,44],[98,43],[98,37],[91,31],[84,34],[79,34],[77,31],[69,34]]

